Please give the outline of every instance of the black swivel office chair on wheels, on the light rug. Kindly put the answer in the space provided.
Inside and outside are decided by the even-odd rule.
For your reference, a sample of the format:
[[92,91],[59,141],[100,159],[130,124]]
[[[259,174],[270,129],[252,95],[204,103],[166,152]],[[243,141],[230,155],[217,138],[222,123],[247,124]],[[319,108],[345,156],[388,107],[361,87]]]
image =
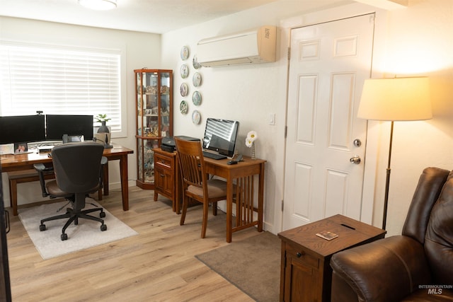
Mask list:
[[[103,208],[82,210],[88,194],[97,192],[100,186],[101,158],[104,147],[92,142],[68,143],[55,146],[52,149],[52,163],[55,180],[47,182],[43,187],[43,196],[50,198],[65,198],[72,203],[73,208],[68,208],[66,214],[52,216],[41,220],[40,231],[45,231],[45,221],[69,218],[62,228],[62,240],[67,240],[65,233],[67,227],[74,221],[79,224],[79,218],[90,219],[101,223],[101,231],[107,230],[102,218],[105,217]],[[38,165],[39,166],[39,165]],[[35,166],[35,168],[37,168]],[[38,169],[45,173],[45,169]],[[41,171],[40,171],[41,170]],[[47,190],[46,190],[47,189]],[[88,215],[100,211],[97,218]]]

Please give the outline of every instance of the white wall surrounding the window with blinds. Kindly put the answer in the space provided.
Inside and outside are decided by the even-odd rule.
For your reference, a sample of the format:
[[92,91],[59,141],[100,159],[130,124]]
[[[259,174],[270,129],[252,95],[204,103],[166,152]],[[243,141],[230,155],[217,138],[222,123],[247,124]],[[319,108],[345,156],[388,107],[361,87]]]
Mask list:
[[[133,70],[144,66],[156,69],[161,67],[161,35],[0,17],[0,39],[45,45],[63,44],[76,47],[122,50],[126,59],[124,64],[125,71],[123,71],[126,91],[122,95],[123,101],[127,103],[125,111],[122,113],[127,117],[127,137],[115,138],[112,141],[113,144],[116,143],[133,150],[135,149],[135,82]],[[28,113],[34,114],[35,110]],[[0,131],[4,131],[4,129],[0,129]],[[134,180],[137,179],[135,153],[128,156],[128,173],[130,185],[135,185]],[[8,207],[10,199],[6,173],[2,173],[2,180],[5,206]],[[109,165],[109,180],[112,188],[120,187],[118,161],[113,161]],[[38,182],[19,184],[18,204],[28,204],[43,200],[40,192]]]

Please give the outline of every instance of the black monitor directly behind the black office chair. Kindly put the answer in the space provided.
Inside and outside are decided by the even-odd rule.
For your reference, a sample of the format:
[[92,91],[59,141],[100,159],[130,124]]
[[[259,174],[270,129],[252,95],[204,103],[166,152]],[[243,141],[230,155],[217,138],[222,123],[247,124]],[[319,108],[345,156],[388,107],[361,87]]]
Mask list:
[[61,141],[64,134],[83,135],[93,139],[93,115],[45,115],[45,131],[48,141]]

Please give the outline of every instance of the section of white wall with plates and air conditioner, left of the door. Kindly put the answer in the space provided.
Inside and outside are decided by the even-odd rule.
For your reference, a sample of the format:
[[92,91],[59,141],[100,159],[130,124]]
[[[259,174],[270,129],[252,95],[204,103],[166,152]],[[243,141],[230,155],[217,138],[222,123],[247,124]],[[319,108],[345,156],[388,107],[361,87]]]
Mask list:
[[[200,25],[176,30],[162,37],[162,64],[174,69],[173,78],[176,88],[174,98],[174,134],[202,138],[207,117],[239,120],[238,152],[250,155],[245,145],[246,135],[255,130],[256,156],[268,161],[265,165],[265,228],[277,232],[280,225],[275,226],[277,204],[282,199],[282,156],[285,144],[285,74],[286,53],[277,50],[277,62],[268,64],[226,66],[195,70],[192,66],[193,56],[199,40],[216,35],[234,33],[240,30],[256,28],[261,25],[276,25],[280,20],[275,18],[273,10],[265,8],[253,9],[226,18],[202,23]],[[277,34],[277,40],[280,33]],[[280,40],[279,40],[280,44]],[[184,45],[190,48],[187,62],[180,59],[180,49]],[[188,79],[181,79],[179,69],[183,63],[190,64]],[[190,95],[195,91],[192,75],[197,71],[202,74],[202,86],[197,90],[202,93],[202,104],[193,105]],[[282,81],[283,79],[283,81]],[[189,95],[180,96],[178,88],[181,83],[189,84]],[[282,93],[283,89],[283,93]],[[179,103],[186,100],[189,112],[182,115]],[[201,112],[200,124],[193,124],[193,110]],[[268,123],[269,115],[275,115],[275,125]]]

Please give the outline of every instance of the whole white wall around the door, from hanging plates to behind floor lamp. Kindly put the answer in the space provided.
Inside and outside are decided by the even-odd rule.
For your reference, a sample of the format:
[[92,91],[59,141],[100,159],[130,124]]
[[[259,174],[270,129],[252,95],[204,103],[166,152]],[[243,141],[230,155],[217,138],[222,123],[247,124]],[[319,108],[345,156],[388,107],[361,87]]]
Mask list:
[[[174,82],[178,89],[183,79],[179,76],[180,48],[190,47],[190,59],[196,54],[197,41],[205,37],[234,33],[260,25],[280,27],[278,61],[270,64],[204,68],[199,70],[203,83],[199,91],[203,101],[199,110],[202,123],[194,125],[190,113],[178,112],[180,97],[175,93],[175,134],[202,137],[206,117],[223,117],[241,121],[239,151],[248,153],[242,143],[246,133],[258,132],[257,156],[268,161],[265,174],[265,228],[273,233],[280,231],[285,128],[285,87],[287,33],[289,28],[325,21],[324,19],[356,16],[377,11],[374,46],[373,77],[382,76],[430,76],[432,82],[434,118],[427,122],[396,123],[392,172],[389,197],[387,231],[389,235],[401,233],[401,228],[411,202],[413,190],[423,168],[435,165],[452,169],[452,117],[453,107],[453,1],[411,0],[408,8],[383,13],[371,6],[352,4],[332,8],[323,13],[302,16],[294,6],[286,8],[282,3],[268,4],[260,8],[236,13],[226,18],[176,30],[162,37],[162,64],[176,71]],[[291,11],[291,12],[289,12]],[[190,62],[189,62],[190,64]],[[411,67],[411,68],[407,68]],[[191,67],[190,76],[195,72]],[[194,90],[191,81],[190,93]],[[268,116],[276,115],[274,126],[268,124]],[[363,220],[375,226],[382,223],[385,168],[388,155],[388,123],[369,123],[367,167],[372,175],[365,178],[365,198],[374,199],[374,207],[363,214]],[[369,174],[369,172],[368,172]],[[366,216],[366,217],[365,217]]]

